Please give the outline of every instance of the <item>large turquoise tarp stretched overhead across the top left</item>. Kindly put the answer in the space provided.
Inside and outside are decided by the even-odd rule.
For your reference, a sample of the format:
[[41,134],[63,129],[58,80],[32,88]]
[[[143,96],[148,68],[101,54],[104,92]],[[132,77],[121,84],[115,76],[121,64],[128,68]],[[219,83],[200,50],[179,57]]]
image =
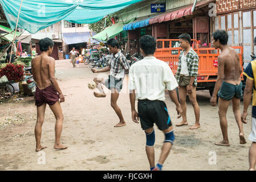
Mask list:
[[[72,23],[95,23],[142,0],[23,0],[18,27],[35,34],[60,20]],[[6,18],[14,30],[21,0],[1,0]]]

